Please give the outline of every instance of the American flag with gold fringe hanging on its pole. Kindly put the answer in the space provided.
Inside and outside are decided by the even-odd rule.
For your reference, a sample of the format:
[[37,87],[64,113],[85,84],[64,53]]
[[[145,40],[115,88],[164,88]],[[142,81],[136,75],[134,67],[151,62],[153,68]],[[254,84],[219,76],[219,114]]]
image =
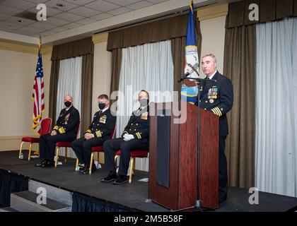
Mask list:
[[36,74],[33,85],[32,99],[34,101],[33,110],[33,131],[40,134],[40,122],[42,120],[42,112],[45,110],[45,93],[43,93],[43,70],[42,70],[42,56],[41,43],[39,44],[38,60],[36,66]]

